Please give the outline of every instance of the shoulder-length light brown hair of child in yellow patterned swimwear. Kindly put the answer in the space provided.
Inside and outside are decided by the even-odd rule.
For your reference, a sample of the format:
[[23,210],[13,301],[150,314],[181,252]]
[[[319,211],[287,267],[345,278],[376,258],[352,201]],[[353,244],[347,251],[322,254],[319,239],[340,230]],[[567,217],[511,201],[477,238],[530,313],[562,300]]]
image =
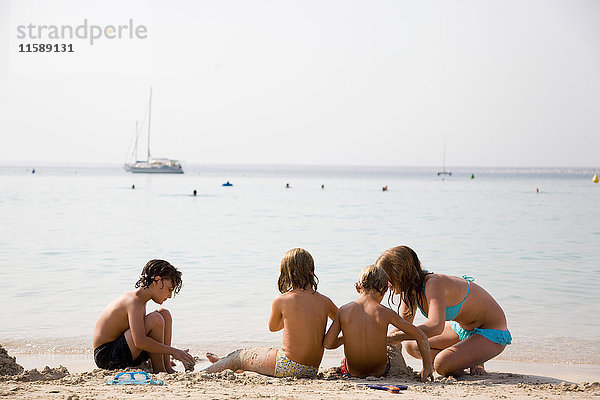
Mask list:
[[296,248],[283,255],[277,283],[281,293],[292,289],[306,289],[307,286],[316,292],[317,283],[319,278],[315,275],[315,262],[308,251]]

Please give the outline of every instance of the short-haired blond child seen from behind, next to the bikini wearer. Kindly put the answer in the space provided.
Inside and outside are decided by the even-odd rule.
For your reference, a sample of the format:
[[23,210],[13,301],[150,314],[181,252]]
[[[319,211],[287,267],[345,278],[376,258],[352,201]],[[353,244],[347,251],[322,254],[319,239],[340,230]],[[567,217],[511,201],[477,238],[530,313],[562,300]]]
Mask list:
[[[340,307],[323,341],[327,349],[344,345],[346,358],[342,360],[342,373],[357,378],[385,376],[390,369],[387,331],[388,325],[392,324],[417,340],[423,354],[421,379],[425,381],[433,372],[427,336],[380,304],[388,289],[385,271],[369,265],[363,268],[355,286],[359,293],[358,300]],[[338,337],[340,330],[342,336]]]

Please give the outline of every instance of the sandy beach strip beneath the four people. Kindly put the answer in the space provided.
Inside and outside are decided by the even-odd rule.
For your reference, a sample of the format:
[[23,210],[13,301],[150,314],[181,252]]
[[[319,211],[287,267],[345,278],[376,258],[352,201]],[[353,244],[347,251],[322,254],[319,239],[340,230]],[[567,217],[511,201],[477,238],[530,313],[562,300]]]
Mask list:
[[[437,376],[434,382],[422,383],[414,377],[398,374],[386,378],[347,379],[335,367],[321,368],[318,379],[272,378],[251,372],[218,374],[177,372],[173,375],[153,374],[164,381],[158,385],[108,385],[119,371],[69,373],[65,367],[23,370],[0,347],[0,396],[9,399],[383,399],[397,395],[412,399],[469,397],[476,399],[598,399],[600,383],[595,369],[580,375],[582,379],[557,379],[537,374],[506,372],[514,364],[500,364],[503,372],[489,369],[483,376],[458,378]],[[494,365],[497,366],[497,365]],[[512,366],[512,368],[511,368]],[[197,367],[198,369],[198,367]],[[517,367],[518,369],[518,367]],[[561,367],[556,366],[560,371]],[[562,368],[564,376],[569,372]],[[571,374],[571,376],[573,376]],[[596,379],[597,380],[597,379]],[[400,394],[360,387],[362,383],[406,385]]]

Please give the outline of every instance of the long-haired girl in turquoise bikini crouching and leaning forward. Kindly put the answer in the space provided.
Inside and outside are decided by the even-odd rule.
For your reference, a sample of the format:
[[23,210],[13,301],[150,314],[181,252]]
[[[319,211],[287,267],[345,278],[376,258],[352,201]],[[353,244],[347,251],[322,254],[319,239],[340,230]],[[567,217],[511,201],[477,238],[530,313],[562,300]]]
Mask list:
[[[427,318],[418,327],[429,338],[433,367],[440,375],[459,375],[465,368],[470,368],[471,375],[485,374],[483,363],[510,344],[504,311],[473,278],[424,271],[417,254],[407,246],[386,250],[377,266],[390,279],[392,303],[393,295],[400,295],[400,316],[412,323],[418,308]],[[389,344],[406,339],[402,331],[388,334]],[[414,341],[405,348],[421,358]]]

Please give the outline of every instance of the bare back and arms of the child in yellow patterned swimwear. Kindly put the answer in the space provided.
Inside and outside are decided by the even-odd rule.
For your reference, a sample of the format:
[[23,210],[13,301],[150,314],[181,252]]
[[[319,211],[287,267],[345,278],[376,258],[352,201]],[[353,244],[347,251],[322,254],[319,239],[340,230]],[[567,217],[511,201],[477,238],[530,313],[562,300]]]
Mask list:
[[327,318],[333,319],[336,311],[328,297],[310,289],[294,289],[273,301],[269,328],[276,331],[283,327],[282,349],[290,359],[318,367]]

